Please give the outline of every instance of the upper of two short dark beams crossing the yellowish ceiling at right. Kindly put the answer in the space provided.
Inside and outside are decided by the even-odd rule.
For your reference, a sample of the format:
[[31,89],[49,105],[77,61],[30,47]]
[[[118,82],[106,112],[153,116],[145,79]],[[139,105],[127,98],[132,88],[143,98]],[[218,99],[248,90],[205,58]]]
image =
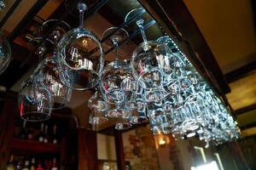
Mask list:
[[235,71],[230,71],[225,74],[227,82],[235,82],[236,80],[241,79],[242,77],[247,77],[249,74],[252,74],[256,71],[256,61],[249,63],[247,65],[241,66]]

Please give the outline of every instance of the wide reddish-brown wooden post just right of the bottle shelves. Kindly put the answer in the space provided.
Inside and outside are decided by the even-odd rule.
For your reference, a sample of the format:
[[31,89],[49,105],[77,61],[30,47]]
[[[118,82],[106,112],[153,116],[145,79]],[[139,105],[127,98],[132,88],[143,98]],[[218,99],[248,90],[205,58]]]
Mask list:
[[97,169],[96,132],[79,128],[79,170]]

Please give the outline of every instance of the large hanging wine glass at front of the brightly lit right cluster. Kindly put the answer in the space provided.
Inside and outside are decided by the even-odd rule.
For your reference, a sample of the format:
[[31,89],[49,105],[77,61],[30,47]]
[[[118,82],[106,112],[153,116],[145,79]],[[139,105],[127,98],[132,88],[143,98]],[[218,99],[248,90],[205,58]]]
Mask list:
[[[125,16],[125,22],[131,20],[135,15],[140,14],[143,8],[131,10]],[[168,54],[166,45],[148,41],[143,28],[144,19],[139,17],[137,26],[141,31],[143,42],[137,46],[131,57],[131,69],[133,76],[146,89],[158,89],[163,87],[163,68],[168,65],[165,58]]]

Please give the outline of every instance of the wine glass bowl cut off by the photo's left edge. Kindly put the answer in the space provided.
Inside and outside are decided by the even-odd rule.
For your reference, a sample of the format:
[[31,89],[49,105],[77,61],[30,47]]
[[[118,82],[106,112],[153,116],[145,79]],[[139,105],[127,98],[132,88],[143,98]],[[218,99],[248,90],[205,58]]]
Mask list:
[[11,61],[11,48],[8,40],[0,34],[0,75],[7,69]]

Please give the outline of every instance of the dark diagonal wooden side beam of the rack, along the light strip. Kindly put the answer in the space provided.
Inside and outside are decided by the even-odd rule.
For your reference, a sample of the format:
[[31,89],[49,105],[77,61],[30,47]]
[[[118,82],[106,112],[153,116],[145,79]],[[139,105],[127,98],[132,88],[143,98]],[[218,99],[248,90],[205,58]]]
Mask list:
[[[230,92],[230,87],[226,82],[221,69],[214,58],[211,49],[207,45],[206,40],[201,34],[200,29],[195,23],[189,9],[180,0],[139,0],[145,8],[154,14],[154,18],[160,21],[168,34],[175,37],[177,42],[188,45],[184,42],[189,42],[197,55],[191,59],[196,65],[203,65],[207,68],[208,75],[214,79],[212,85],[218,88],[221,94]],[[170,36],[171,36],[170,35]],[[186,48],[186,47],[185,47]],[[196,59],[198,58],[198,59]],[[214,84],[217,82],[217,85]]]

